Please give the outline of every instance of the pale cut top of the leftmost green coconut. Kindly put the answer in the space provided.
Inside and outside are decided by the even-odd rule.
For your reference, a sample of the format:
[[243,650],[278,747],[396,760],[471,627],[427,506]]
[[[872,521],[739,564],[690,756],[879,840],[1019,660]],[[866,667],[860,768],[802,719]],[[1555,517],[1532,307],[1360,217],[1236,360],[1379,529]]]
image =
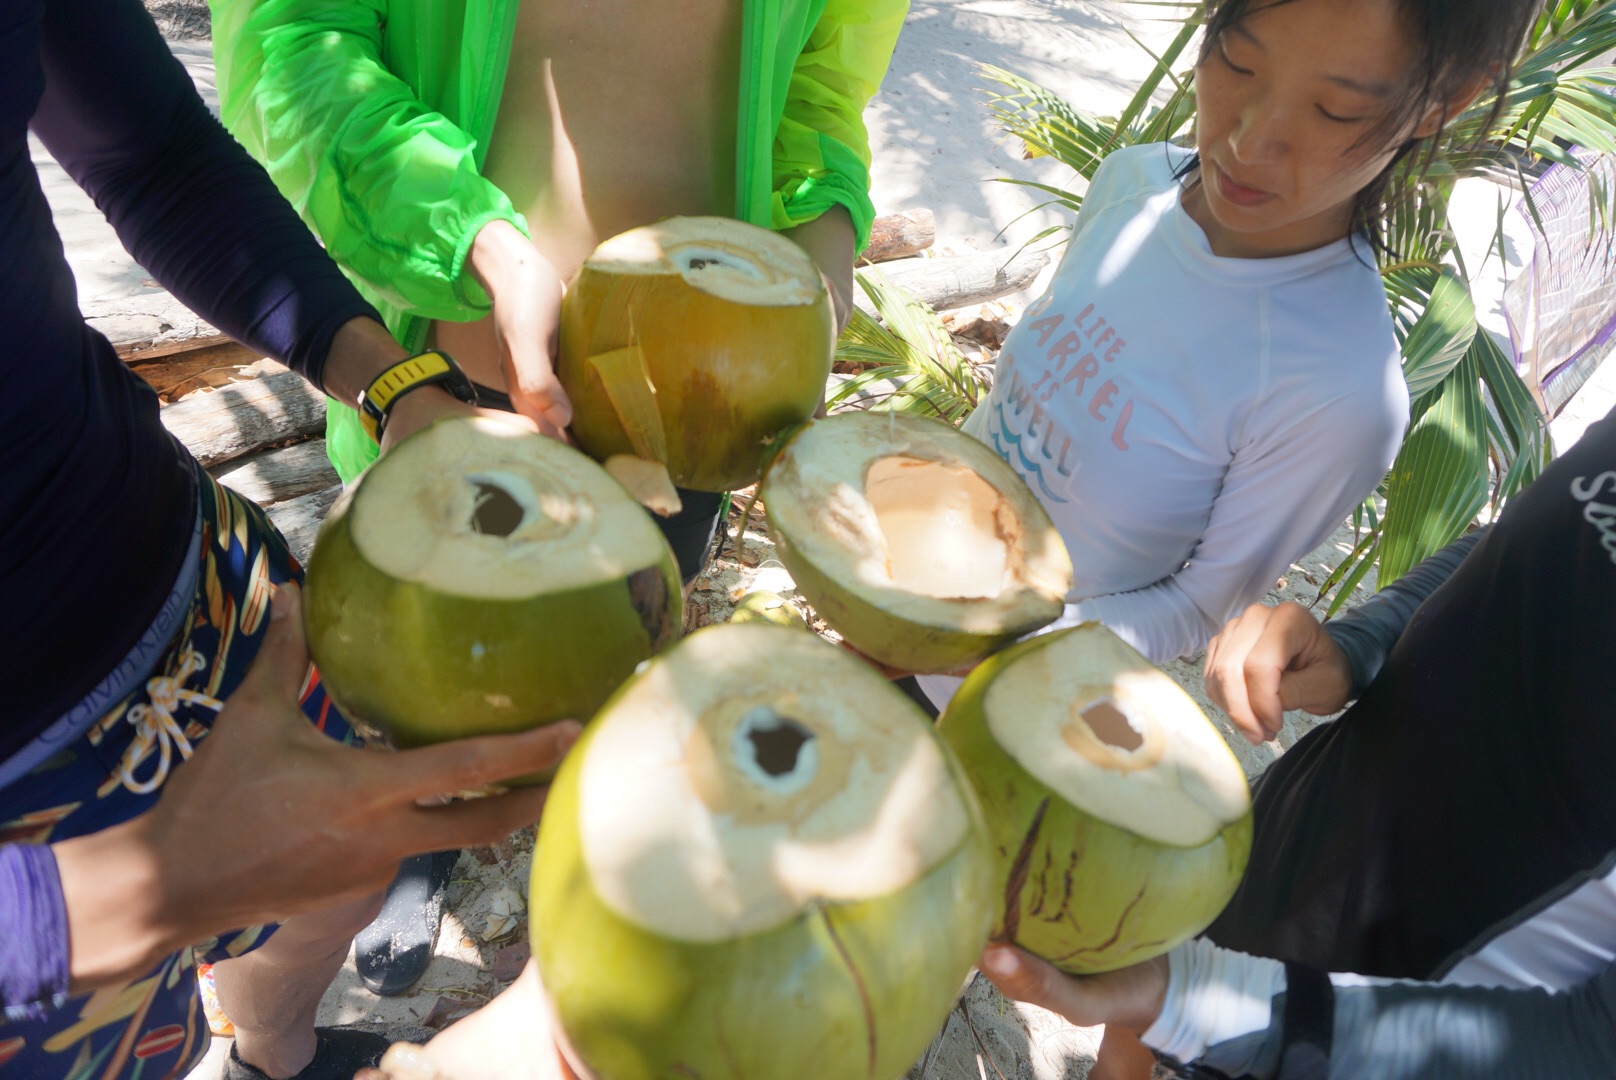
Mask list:
[[663,538],[606,472],[486,419],[404,440],[354,491],[352,540],[375,569],[433,592],[517,600],[654,566]]

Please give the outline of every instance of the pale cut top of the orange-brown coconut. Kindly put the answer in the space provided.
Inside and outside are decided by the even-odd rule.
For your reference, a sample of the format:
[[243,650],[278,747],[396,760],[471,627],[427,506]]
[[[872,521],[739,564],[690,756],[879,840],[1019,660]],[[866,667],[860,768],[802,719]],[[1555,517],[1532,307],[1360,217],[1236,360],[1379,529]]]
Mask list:
[[797,307],[824,294],[808,254],[769,230],[730,218],[667,218],[621,233],[583,264],[601,273],[679,275],[735,304]]

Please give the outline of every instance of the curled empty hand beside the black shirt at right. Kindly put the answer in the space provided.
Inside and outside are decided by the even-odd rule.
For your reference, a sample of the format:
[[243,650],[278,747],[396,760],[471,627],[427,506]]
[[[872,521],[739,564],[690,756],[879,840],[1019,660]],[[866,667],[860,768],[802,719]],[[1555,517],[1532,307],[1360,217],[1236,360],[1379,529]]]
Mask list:
[[1278,736],[1288,708],[1327,716],[1353,694],[1346,653],[1298,603],[1254,603],[1230,619],[1207,645],[1201,679],[1251,742]]

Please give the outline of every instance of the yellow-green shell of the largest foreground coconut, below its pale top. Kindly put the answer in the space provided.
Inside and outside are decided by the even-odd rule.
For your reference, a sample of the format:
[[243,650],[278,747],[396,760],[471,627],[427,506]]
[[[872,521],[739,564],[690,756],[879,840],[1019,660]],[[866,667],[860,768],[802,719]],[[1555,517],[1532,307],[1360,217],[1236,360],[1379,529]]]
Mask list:
[[574,1067],[595,1080],[902,1077],[945,1023],[992,917],[986,826],[947,747],[973,820],[949,857],[884,897],[690,943],[624,918],[591,884],[579,778],[595,731],[556,774],[530,889],[533,956]]

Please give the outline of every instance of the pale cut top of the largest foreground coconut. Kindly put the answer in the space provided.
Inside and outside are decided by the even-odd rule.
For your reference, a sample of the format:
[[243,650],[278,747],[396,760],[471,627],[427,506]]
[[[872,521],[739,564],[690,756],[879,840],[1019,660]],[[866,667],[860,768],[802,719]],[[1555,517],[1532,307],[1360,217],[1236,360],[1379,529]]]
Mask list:
[[947,859],[968,810],[920,715],[806,634],[714,626],[601,713],[579,839],[601,901],[713,943],[889,896]]

